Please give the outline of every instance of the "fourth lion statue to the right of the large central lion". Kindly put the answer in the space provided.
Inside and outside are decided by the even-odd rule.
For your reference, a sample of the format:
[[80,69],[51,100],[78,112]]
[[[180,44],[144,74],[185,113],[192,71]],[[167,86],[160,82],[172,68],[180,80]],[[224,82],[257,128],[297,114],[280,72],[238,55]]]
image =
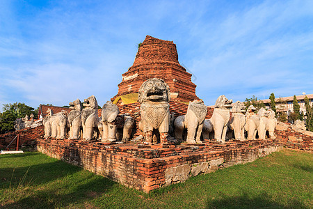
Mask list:
[[248,140],[254,140],[259,128],[259,115],[255,114],[256,108],[250,105],[246,111],[245,130],[248,132]]

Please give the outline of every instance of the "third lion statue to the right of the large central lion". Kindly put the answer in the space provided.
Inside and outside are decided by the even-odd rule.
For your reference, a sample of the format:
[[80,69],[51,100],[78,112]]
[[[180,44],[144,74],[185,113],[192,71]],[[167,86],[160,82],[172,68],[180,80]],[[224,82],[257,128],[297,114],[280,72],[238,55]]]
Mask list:
[[246,106],[243,102],[237,101],[232,106],[232,118],[229,122],[229,127],[234,130],[234,137],[236,140],[245,140],[245,124],[246,116]]

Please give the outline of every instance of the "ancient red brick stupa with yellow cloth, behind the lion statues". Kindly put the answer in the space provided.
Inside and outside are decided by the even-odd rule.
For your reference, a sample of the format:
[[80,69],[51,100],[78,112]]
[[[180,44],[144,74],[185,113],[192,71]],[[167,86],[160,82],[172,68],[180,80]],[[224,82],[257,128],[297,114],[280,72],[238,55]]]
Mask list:
[[[186,114],[188,102],[199,100],[195,95],[195,84],[191,74],[178,62],[176,45],[172,41],[147,36],[138,47],[134,64],[122,74],[118,84],[118,94],[111,100],[118,104],[120,114],[130,114],[136,121],[136,134],[140,134],[138,123],[141,120],[138,90],[147,79],[161,78],[170,86],[170,114]],[[213,113],[208,107],[207,117]]]

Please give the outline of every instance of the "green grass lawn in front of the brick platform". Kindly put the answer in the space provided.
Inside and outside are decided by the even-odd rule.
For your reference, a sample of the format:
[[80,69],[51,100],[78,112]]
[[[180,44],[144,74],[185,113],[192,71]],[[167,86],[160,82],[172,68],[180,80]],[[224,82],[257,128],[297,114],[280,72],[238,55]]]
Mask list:
[[282,150],[150,194],[41,153],[0,155],[0,208],[313,208],[313,155]]

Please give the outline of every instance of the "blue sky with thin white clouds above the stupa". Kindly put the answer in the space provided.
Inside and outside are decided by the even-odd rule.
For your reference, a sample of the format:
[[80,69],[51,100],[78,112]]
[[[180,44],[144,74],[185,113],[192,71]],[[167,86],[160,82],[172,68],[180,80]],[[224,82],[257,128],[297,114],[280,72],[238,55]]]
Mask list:
[[313,1],[0,1],[0,106],[118,93],[146,35],[172,40],[207,105],[313,93]]

